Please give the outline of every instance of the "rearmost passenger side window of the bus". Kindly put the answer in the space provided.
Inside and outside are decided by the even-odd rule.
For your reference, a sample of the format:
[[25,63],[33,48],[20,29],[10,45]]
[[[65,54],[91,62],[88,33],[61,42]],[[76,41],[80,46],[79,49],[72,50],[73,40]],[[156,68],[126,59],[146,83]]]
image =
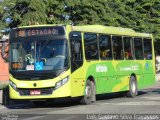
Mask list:
[[143,45],[144,45],[144,57],[147,60],[152,59],[152,41],[151,39],[143,39]]

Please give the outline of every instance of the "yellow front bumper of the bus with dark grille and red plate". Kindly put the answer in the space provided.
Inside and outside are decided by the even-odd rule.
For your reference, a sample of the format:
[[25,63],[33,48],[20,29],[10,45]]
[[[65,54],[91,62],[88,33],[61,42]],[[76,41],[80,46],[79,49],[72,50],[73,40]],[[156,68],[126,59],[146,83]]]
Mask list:
[[9,84],[9,95],[11,99],[53,99],[71,96],[70,83],[67,82],[61,87],[45,88],[17,88]]

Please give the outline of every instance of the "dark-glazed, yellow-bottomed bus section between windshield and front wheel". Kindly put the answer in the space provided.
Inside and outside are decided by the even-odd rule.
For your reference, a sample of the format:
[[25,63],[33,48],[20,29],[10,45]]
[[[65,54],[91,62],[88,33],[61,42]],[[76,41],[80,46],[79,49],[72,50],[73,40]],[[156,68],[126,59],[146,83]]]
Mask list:
[[82,37],[81,32],[70,33],[70,48],[71,48],[71,75],[72,80],[72,96],[83,94],[83,85],[85,74],[83,65]]

